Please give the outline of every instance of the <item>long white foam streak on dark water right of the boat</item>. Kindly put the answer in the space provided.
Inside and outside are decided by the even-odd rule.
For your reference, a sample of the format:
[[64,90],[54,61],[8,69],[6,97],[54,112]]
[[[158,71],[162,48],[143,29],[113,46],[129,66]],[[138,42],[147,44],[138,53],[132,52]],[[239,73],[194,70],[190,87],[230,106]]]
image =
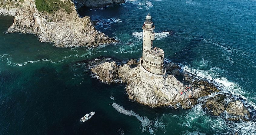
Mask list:
[[129,116],[135,116],[140,121],[142,129],[144,131],[146,130],[146,128],[149,126],[149,124],[151,122],[151,120],[149,120],[147,117],[141,117],[140,115],[136,114],[132,110],[125,110],[125,108],[123,106],[120,106],[120,105],[118,105],[116,103],[113,103],[112,107],[114,107],[115,110],[117,110],[119,113],[122,113],[122,114],[125,114],[125,115],[129,115]]

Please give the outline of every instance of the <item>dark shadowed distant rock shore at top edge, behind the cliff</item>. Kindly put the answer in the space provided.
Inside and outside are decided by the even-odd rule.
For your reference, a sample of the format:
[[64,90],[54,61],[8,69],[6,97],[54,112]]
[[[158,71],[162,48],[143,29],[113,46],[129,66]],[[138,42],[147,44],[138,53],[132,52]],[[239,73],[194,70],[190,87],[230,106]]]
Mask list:
[[72,0],[73,3],[75,3],[75,6],[77,8],[81,8],[83,6],[89,7],[89,8],[98,8],[98,7],[104,7],[106,5],[111,4],[121,4],[125,3],[124,0]]

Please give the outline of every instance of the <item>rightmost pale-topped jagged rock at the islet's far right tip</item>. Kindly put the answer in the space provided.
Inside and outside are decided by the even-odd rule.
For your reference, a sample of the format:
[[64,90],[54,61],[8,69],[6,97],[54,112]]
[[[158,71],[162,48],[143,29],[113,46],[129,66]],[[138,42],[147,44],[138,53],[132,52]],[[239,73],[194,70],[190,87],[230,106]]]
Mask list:
[[236,100],[228,103],[226,111],[234,116],[247,116],[251,117],[247,108],[241,100]]

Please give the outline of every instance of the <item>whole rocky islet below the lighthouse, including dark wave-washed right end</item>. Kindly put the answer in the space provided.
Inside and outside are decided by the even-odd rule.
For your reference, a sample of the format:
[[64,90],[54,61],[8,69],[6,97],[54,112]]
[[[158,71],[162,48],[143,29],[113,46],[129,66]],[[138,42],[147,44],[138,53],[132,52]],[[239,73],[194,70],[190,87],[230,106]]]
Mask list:
[[[115,79],[121,79],[126,83],[126,92],[128,98],[137,102],[148,105],[150,107],[173,106],[175,109],[191,109],[198,104],[198,98],[211,95],[211,93],[219,92],[219,89],[212,82],[198,79],[191,74],[181,73],[184,81],[178,80],[172,74],[155,76],[155,74],[146,74],[143,72],[143,67],[140,63],[136,67],[131,67],[130,64],[135,62],[135,59],[129,60],[129,64],[121,64],[106,59],[107,62],[98,62],[97,66],[91,68],[91,71],[98,75],[98,79],[110,84]],[[99,61],[94,59],[95,63]],[[175,65],[175,64],[173,64]],[[172,70],[177,70],[172,68]],[[171,71],[170,71],[171,72]],[[180,76],[179,76],[180,77]],[[192,79],[193,78],[193,79]],[[186,87],[191,87],[186,91]],[[181,91],[184,93],[181,95]],[[232,101],[226,100],[226,98]],[[200,101],[202,102],[202,101]],[[211,114],[219,116],[226,111],[231,117],[228,120],[244,120],[251,119],[248,109],[239,99],[234,99],[231,94],[217,94],[202,102],[202,106]]]

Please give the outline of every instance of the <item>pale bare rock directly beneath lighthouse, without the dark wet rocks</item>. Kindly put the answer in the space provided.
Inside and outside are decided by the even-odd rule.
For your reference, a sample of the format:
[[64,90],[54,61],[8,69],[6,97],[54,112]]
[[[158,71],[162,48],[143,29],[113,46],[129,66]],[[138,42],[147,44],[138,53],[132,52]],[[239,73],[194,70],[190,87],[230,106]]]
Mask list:
[[[118,69],[118,75],[115,74],[116,69]],[[192,98],[198,97],[201,91],[201,88],[194,87],[185,92],[188,85],[184,85],[171,74],[151,76],[150,79],[145,79],[146,77],[142,77],[143,70],[140,64],[134,68],[128,64],[120,65],[117,68],[115,62],[105,62],[92,68],[91,71],[98,74],[101,81],[108,80],[107,83],[120,77],[127,84],[126,91],[130,99],[151,107],[175,105],[189,99],[193,104],[190,101],[191,103],[188,102],[189,107],[185,107],[185,104],[184,107],[190,108],[196,102]],[[181,91],[184,94],[181,95]]]

